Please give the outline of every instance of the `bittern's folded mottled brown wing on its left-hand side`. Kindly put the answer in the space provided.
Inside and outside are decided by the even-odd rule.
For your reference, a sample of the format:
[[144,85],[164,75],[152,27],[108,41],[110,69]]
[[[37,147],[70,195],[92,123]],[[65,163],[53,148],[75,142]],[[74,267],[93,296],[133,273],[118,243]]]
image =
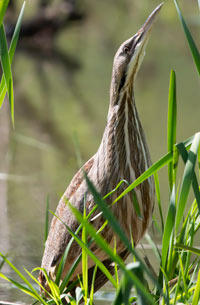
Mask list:
[[[86,174],[88,174],[92,168],[93,163],[94,156],[89,159],[85,165],[76,173],[68,188],[66,189],[63,197],[61,198],[55,212],[56,216],[58,216],[74,232],[78,228],[79,223],[75,216],[72,214],[70,208],[67,206],[66,201],[69,200],[69,202],[74,204],[79,210],[81,209],[80,201],[84,199],[84,195],[82,195],[80,190],[83,188],[81,185],[84,183],[83,170],[86,172]],[[45,268],[48,273],[53,273],[53,275],[55,275],[56,266],[64,254],[70,239],[71,235],[67,231],[66,227],[57,217],[54,216],[51,222],[50,231],[42,258],[42,268]],[[78,245],[74,243],[70,250],[72,251],[70,251],[70,255],[68,255],[67,259],[67,264],[69,265],[70,261],[72,262],[74,257],[77,257],[78,255]]]

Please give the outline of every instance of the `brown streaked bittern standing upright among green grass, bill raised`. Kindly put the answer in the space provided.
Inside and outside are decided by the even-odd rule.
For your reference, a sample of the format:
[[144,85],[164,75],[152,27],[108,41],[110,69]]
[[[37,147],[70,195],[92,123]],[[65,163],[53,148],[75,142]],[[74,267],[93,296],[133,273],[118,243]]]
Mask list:
[[[93,196],[89,192],[84,179],[83,171],[103,197],[114,189],[121,180],[128,183],[133,182],[151,165],[144,131],[136,109],[134,84],[145,54],[145,47],[152,25],[161,6],[162,4],[151,13],[134,36],[122,43],[114,57],[110,105],[101,144],[96,154],[76,173],[62,196],[55,213],[74,232],[79,227],[79,223],[66,201],[69,201],[81,213],[83,213],[85,206],[87,214],[95,205]],[[106,199],[107,203],[111,204],[125,187],[126,185],[122,185],[120,189],[109,196]],[[153,178],[148,178],[135,188],[135,195],[139,204],[140,215],[134,208],[133,194],[131,193],[128,193],[117,204],[113,205],[112,212],[127,236],[132,237],[134,245],[137,245],[143,237],[152,216],[154,205]],[[57,267],[71,239],[70,233],[62,222],[57,217],[53,218],[42,259],[42,268],[46,269],[52,279],[55,279]],[[92,224],[96,229],[99,229],[103,223],[102,215],[92,218]],[[117,253],[122,259],[128,256],[128,250],[110,227],[106,226],[101,234],[113,248],[114,245],[116,246]],[[114,267],[111,259],[94,243],[91,245],[91,250],[112,273]],[[76,242],[73,242],[65,262],[62,278],[80,253],[81,248]],[[95,263],[88,259],[89,281],[92,278],[94,265]],[[81,275],[81,273],[82,266],[79,263],[71,280],[74,281],[77,275]],[[47,287],[43,272],[40,272],[39,279],[42,285]],[[98,270],[95,290],[99,289],[106,280],[106,276]]]

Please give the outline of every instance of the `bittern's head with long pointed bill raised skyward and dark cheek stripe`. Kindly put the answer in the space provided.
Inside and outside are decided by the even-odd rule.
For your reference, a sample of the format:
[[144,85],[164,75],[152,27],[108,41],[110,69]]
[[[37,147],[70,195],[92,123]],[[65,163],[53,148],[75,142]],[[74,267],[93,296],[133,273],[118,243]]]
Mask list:
[[122,43],[115,54],[110,92],[114,104],[117,104],[122,91],[127,88],[132,90],[134,79],[145,55],[152,25],[162,5],[163,3],[156,7],[139,31]]

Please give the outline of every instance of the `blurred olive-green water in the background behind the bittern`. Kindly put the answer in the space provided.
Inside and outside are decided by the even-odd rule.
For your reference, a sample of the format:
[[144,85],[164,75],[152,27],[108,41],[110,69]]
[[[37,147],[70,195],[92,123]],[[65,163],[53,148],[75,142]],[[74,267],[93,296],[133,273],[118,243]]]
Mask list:
[[[47,196],[55,210],[78,169],[77,147],[83,162],[96,152],[108,110],[113,55],[157,4],[87,0],[85,21],[63,31],[56,42],[68,56],[68,64],[22,51],[16,54],[14,130],[5,105],[0,111],[0,251],[8,253],[20,270],[40,266]],[[27,3],[28,13],[31,5]],[[192,16],[197,12],[184,5],[195,35],[198,28]],[[175,9],[168,3],[152,31],[135,88],[153,161],[166,152],[172,68],[177,72],[178,140],[184,140],[199,130],[200,91]],[[163,204],[167,202],[165,177],[162,170]],[[7,266],[3,271],[15,277]],[[27,301],[2,280],[0,300]]]

